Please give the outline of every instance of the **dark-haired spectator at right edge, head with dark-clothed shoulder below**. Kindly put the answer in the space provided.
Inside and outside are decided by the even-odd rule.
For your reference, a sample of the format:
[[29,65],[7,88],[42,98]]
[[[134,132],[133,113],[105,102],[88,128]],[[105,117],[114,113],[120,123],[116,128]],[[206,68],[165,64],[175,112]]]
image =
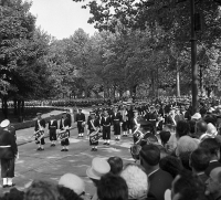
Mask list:
[[207,138],[200,144],[199,147],[209,150],[210,164],[204,171],[206,175],[209,176],[212,169],[221,167],[221,164],[218,161],[220,159],[220,144],[215,138]]

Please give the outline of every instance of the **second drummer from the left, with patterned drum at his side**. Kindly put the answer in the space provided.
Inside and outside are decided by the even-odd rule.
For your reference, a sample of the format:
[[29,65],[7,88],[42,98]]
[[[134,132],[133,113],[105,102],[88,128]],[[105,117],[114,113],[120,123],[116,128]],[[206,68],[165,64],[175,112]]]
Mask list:
[[63,138],[62,135],[60,134],[60,138],[61,138],[61,145],[62,145],[62,150],[61,151],[69,151],[69,145],[70,145],[70,128],[71,128],[71,122],[66,115],[66,112],[63,113],[63,116],[61,118],[60,122],[60,129],[65,130],[65,137]]

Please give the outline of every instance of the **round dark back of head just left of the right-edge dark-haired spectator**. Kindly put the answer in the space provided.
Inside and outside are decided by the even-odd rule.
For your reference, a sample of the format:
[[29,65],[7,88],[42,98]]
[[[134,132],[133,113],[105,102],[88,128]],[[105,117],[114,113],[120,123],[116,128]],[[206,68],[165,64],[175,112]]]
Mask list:
[[203,148],[198,148],[190,154],[190,167],[196,172],[204,171],[210,162],[209,151]]

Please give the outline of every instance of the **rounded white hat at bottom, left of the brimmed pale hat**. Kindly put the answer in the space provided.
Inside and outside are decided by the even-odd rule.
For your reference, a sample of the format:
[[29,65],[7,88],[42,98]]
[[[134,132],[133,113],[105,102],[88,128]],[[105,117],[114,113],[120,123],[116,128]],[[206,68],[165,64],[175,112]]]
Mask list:
[[80,178],[76,175],[73,173],[63,175],[59,180],[59,185],[73,190],[74,193],[76,193],[80,197],[85,194],[84,180],[82,180],[82,178]]

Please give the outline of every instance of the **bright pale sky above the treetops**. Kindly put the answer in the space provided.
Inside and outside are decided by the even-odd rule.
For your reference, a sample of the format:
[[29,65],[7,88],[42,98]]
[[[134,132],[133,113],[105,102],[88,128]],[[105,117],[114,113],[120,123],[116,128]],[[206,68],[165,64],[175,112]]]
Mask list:
[[69,38],[82,28],[93,35],[96,31],[88,24],[90,10],[82,9],[82,3],[73,0],[27,0],[32,1],[30,12],[36,17],[36,27],[59,40]]

